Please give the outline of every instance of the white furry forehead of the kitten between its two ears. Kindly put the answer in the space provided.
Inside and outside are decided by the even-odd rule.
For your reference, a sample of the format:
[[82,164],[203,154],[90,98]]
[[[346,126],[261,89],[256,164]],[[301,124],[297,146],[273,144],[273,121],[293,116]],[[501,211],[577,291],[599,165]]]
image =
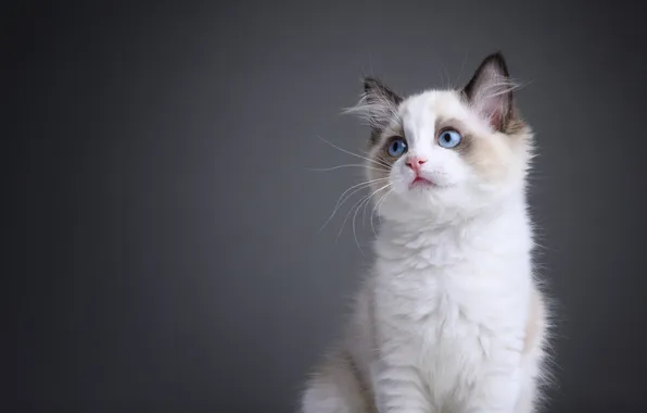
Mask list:
[[401,117],[405,124],[418,124],[423,120],[432,123],[436,118],[468,121],[471,113],[454,90],[428,90],[409,97],[401,105]]

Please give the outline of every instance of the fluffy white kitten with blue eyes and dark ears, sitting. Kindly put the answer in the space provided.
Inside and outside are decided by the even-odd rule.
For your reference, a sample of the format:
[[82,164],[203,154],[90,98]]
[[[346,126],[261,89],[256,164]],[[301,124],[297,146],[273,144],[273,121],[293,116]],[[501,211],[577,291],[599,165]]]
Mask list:
[[352,112],[371,127],[377,258],[303,413],[535,411],[548,325],[513,88],[500,53],[461,90],[403,99],[365,79]]

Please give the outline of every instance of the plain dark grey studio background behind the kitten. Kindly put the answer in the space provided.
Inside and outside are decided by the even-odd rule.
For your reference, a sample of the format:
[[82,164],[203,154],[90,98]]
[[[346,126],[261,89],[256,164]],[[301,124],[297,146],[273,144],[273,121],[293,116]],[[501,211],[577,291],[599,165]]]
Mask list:
[[318,233],[361,175],[306,170],[356,163],[317,137],[361,148],[368,132],[340,110],[363,74],[408,93],[462,84],[496,50],[532,80],[517,96],[537,134],[537,261],[559,309],[548,411],[647,411],[639,5],[3,14],[3,305],[17,330],[2,403],[16,396],[14,411],[292,411],[370,262],[366,222],[361,250],[348,222],[337,240],[354,201]]

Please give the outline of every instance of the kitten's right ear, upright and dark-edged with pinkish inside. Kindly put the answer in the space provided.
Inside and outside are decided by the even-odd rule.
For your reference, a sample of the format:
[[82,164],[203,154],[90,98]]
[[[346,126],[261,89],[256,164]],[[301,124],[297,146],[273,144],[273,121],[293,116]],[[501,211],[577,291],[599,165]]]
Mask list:
[[515,88],[506,61],[497,52],[483,60],[462,93],[470,105],[490,121],[495,130],[503,132],[513,115]]

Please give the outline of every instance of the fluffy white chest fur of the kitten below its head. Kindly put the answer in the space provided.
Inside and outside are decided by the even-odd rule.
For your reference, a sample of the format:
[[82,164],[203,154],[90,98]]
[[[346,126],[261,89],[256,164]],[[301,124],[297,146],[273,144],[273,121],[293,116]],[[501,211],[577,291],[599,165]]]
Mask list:
[[522,211],[458,227],[386,226],[373,291],[380,358],[411,366],[434,400],[460,399],[502,354],[518,363],[530,236]]

